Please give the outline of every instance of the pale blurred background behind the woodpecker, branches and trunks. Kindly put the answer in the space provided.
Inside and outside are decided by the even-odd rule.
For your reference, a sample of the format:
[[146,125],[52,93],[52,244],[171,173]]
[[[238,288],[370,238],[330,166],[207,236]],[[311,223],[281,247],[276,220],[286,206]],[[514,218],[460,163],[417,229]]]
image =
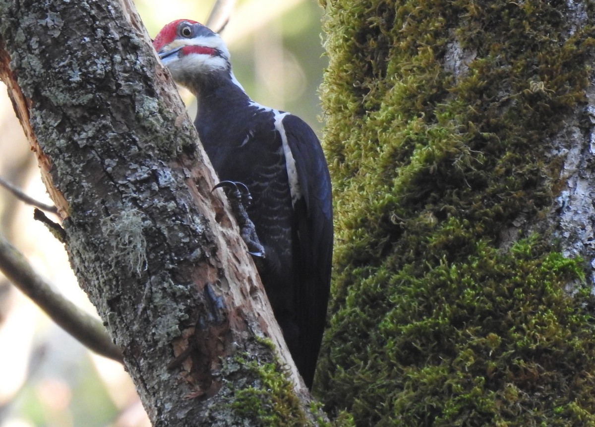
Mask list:
[[[205,22],[214,0],[136,0],[149,34],[177,18]],[[291,111],[319,132],[322,56],[316,0],[238,0],[223,39],[251,98]],[[192,109],[192,96],[183,93]],[[193,117],[193,115],[192,115]],[[0,83],[0,177],[51,203],[36,159]],[[61,243],[33,221],[32,206],[0,187],[0,232],[65,297],[94,313]],[[121,365],[89,353],[0,273],[0,427],[150,426]]]

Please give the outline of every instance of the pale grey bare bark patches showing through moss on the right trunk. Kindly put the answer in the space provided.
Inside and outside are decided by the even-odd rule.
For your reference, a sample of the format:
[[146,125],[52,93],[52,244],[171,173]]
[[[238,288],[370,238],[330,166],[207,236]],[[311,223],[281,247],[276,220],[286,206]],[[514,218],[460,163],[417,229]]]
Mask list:
[[[575,1],[567,5],[569,32],[574,34],[588,24],[586,5]],[[463,49],[455,34],[451,36],[444,69],[460,79],[468,72],[468,64],[475,59],[477,51]],[[549,147],[547,160],[562,164],[558,192],[549,212],[543,218],[519,215],[509,228],[501,231],[500,246],[512,246],[518,240],[519,230],[525,234],[531,231],[549,234],[550,241],[559,242],[563,256],[582,258],[590,265],[587,279],[595,290],[595,74],[591,74],[589,81],[584,101],[560,113],[562,129],[541,142]]]

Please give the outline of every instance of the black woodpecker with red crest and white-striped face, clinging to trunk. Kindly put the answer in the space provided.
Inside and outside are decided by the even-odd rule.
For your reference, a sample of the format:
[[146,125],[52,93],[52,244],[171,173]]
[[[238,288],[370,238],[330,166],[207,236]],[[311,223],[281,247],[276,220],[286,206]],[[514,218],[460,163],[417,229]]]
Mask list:
[[311,388],[333,253],[331,184],[320,142],[300,118],[252,101],[231,71],[223,40],[202,24],[173,21],[153,44],[174,80],[196,96],[196,130],[219,178],[252,196],[246,213],[258,239],[256,246],[246,243]]

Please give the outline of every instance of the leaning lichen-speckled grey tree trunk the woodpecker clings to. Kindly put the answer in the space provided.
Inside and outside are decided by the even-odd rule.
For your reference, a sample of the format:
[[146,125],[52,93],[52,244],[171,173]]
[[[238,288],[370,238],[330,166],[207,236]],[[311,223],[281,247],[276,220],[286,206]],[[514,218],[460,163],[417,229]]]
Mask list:
[[0,1],[0,77],[60,210],[74,272],[123,348],[152,423],[312,419],[237,225],[211,191],[212,168],[133,7]]

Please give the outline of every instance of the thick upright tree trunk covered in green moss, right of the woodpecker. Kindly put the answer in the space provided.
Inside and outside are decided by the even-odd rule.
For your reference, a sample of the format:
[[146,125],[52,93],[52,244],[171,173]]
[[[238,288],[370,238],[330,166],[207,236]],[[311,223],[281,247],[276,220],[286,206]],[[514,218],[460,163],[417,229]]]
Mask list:
[[595,425],[593,2],[324,3],[325,403]]

